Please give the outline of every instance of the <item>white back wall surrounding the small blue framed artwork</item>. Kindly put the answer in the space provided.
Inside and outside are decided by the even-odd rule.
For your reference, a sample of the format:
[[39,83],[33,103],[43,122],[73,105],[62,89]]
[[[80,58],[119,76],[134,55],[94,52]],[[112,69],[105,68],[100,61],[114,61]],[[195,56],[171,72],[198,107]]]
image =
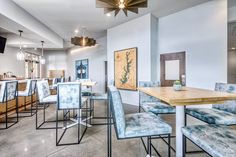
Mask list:
[[71,49],[67,54],[68,76],[75,79],[75,61],[81,59],[89,60],[89,78],[95,80],[97,85],[93,87],[94,92],[105,92],[105,61],[107,60],[106,37],[97,39],[98,45]]

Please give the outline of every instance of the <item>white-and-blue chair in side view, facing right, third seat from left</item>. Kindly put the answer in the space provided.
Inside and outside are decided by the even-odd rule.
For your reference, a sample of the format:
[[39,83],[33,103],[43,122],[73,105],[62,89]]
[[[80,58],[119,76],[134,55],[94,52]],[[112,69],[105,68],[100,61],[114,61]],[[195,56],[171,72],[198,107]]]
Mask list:
[[[36,129],[55,129],[55,127],[47,127],[41,128],[45,123],[56,122],[54,121],[46,121],[46,108],[49,104],[56,104],[57,95],[51,95],[48,81],[37,81],[37,95],[39,103],[36,105]],[[38,125],[38,105],[43,105],[43,122]]]

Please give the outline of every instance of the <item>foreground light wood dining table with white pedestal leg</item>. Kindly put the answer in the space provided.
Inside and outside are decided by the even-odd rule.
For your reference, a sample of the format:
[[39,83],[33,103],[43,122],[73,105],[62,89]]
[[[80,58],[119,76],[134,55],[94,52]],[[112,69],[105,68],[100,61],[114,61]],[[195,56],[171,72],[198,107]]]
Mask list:
[[222,104],[227,100],[236,100],[236,94],[207,89],[184,87],[175,91],[173,87],[140,87],[139,91],[160,99],[176,107],[176,157],[183,156],[183,134],[185,126],[185,107],[204,104]]

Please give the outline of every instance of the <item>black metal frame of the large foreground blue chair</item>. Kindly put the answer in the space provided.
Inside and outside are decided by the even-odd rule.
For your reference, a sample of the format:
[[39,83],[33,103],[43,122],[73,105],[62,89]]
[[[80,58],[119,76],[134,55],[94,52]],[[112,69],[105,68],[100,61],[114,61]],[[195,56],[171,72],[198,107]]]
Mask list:
[[[154,148],[154,151],[157,153],[157,155],[160,156],[159,152],[157,151],[157,149],[153,146],[152,144],[152,139],[154,139],[153,137],[157,137],[157,136],[162,136],[162,135],[154,135],[154,136],[138,136],[138,137],[132,137],[132,138],[119,138],[118,137],[118,131],[117,131],[117,127],[115,125],[116,120],[113,114],[114,114],[114,110],[112,107],[112,103],[110,100],[110,96],[108,96],[108,107],[107,107],[107,156],[108,157],[112,157],[112,124],[114,124],[114,128],[115,128],[115,132],[116,132],[116,137],[118,140],[124,140],[124,139],[133,139],[133,138],[140,138],[142,141],[142,144],[144,146],[144,149],[146,151],[147,154],[152,154],[152,148]],[[112,122],[113,121],[113,122]],[[163,134],[164,136],[168,136],[168,157],[171,156],[171,134]],[[145,146],[145,142],[143,141],[142,138],[147,138],[147,146]]]

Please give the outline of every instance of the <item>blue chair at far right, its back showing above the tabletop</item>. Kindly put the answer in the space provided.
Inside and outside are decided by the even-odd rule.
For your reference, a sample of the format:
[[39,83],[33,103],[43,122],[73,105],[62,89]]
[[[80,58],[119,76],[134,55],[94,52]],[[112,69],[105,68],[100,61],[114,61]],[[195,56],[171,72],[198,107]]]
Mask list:
[[[215,91],[236,93],[236,84],[216,83]],[[212,108],[187,108],[186,114],[208,124],[236,124],[236,101],[213,105]]]

